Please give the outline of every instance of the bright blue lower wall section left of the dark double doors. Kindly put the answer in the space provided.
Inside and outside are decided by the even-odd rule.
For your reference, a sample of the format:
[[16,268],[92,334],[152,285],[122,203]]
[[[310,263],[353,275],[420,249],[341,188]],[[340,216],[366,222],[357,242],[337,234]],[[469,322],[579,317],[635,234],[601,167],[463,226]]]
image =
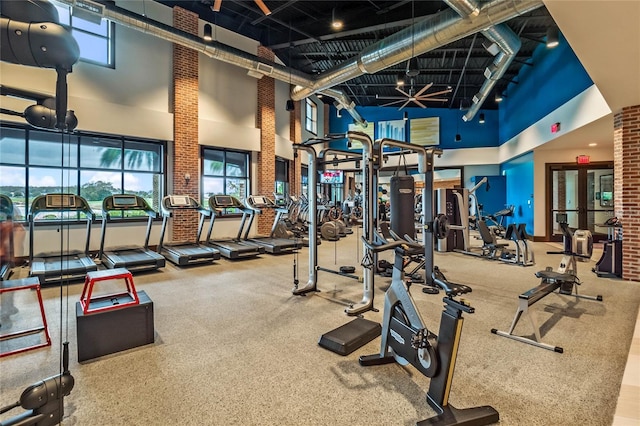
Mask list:
[[525,223],[533,235],[533,153],[507,161],[500,169],[507,183],[507,205],[514,206],[507,223]]

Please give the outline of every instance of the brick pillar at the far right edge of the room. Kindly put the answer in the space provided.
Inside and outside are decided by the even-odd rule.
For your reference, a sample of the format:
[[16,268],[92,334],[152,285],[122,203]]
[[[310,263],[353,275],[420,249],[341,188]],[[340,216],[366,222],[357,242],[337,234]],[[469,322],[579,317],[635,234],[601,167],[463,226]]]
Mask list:
[[640,281],[640,105],[613,121],[614,211],[622,221],[622,278]]

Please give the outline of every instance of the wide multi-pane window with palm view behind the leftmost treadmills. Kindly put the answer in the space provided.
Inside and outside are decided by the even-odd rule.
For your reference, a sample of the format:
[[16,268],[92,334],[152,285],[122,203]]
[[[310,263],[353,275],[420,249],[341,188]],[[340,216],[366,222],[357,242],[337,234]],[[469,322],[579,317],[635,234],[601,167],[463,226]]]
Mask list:
[[0,193],[11,197],[18,220],[42,194],[81,195],[99,217],[108,195],[136,194],[158,210],[163,191],[161,142],[0,127]]

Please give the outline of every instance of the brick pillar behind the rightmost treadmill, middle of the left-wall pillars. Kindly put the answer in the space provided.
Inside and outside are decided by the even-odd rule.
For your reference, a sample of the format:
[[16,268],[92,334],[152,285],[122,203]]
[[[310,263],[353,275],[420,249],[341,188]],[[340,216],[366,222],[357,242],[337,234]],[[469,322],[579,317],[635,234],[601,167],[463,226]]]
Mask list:
[[[275,60],[270,49],[258,46],[258,56]],[[260,152],[258,153],[258,194],[273,198],[276,185],[276,86],[272,77],[258,80],[258,114],[256,127],[260,129]],[[258,216],[258,234],[269,235],[275,212],[264,210]]]

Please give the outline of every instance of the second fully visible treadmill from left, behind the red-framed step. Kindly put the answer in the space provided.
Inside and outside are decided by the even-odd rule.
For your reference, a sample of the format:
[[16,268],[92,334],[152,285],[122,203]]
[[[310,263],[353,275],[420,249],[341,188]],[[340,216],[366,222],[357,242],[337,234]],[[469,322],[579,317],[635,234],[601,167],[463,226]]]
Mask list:
[[[107,223],[126,222],[128,219],[116,219],[111,217],[112,212],[144,212],[147,219],[147,234],[142,247],[117,247],[105,251],[104,240],[107,231]],[[102,200],[102,233],[100,235],[100,251],[98,258],[109,269],[126,268],[130,272],[151,271],[162,268],[165,265],[164,257],[149,249],[149,236],[151,225],[158,213],[153,210],[147,201],[133,194],[110,195]]]

